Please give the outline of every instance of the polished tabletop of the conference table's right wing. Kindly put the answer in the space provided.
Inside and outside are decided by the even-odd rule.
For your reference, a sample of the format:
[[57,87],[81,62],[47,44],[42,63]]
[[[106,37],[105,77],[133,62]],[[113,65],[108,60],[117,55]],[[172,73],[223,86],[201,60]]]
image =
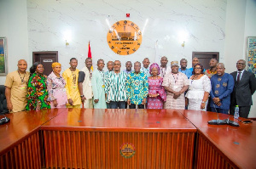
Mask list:
[[[180,110],[191,121],[201,135],[204,135],[226,157],[239,168],[256,168],[256,121],[244,124],[245,118],[237,121],[233,115],[216,114],[206,111]],[[209,125],[207,121],[230,117],[231,121],[239,123],[240,127],[229,125]]]

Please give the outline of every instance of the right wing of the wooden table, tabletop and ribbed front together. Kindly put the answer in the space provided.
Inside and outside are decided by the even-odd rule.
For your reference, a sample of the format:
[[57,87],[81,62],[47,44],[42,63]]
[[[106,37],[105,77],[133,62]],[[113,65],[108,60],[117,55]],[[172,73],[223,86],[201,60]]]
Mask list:
[[229,125],[209,125],[213,119],[233,121],[233,115],[220,113],[180,110],[198,129],[199,138],[195,149],[195,168],[256,168],[256,122],[244,124],[239,118],[240,127]]

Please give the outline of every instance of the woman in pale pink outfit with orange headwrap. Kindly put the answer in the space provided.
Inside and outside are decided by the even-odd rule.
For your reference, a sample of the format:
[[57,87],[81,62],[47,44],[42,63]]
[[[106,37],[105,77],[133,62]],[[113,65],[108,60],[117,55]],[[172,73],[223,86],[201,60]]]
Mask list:
[[61,76],[61,64],[54,62],[51,67],[52,72],[47,77],[47,89],[49,93],[48,101],[50,102],[50,108],[66,108],[66,82]]

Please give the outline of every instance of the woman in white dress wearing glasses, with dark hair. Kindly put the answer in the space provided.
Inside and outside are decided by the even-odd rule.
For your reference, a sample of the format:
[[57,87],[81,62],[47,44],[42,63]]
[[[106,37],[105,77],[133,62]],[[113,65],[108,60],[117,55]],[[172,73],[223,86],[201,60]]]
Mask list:
[[186,94],[188,110],[207,110],[209,93],[212,90],[211,81],[203,73],[203,66],[196,64],[193,75],[189,78],[189,91]]

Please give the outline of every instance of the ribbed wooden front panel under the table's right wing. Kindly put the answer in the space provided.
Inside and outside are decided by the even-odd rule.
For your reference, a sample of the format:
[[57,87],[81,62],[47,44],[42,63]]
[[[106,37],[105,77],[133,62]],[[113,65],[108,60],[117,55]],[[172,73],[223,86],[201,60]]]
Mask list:
[[195,155],[195,168],[198,169],[233,169],[237,168],[232,166],[229,161],[226,161],[219,150],[215,148],[206,138],[198,134],[197,150]]

